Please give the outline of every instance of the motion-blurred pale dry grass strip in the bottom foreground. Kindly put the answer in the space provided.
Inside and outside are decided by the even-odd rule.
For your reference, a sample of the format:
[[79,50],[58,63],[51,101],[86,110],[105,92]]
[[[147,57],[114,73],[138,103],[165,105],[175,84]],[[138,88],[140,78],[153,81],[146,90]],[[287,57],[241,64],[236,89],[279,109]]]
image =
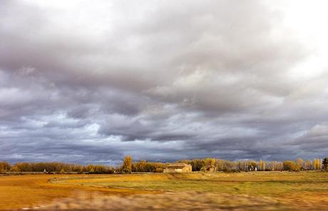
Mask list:
[[80,195],[34,210],[286,210],[270,198],[212,192],[163,192],[120,196]]

